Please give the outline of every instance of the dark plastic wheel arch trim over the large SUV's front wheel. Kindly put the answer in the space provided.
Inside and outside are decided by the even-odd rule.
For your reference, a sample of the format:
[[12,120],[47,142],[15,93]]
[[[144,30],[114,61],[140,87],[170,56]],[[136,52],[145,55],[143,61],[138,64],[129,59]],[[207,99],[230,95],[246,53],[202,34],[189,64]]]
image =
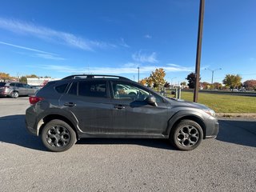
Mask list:
[[175,126],[178,125],[179,122],[181,122],[182,120],[191,120],[194,122],[197,122],[199,124],[199,126],[201,126],[202,128],[202,133],[203,133],[203,139],[206,138],[206,124],[203,122],[203,119],[200,115],[198,114],[182,114],[180,115],[175,114],[173,118],[170,118],[169,123],[168,123],[168,137],[170,136],[170,130],[172,130]]

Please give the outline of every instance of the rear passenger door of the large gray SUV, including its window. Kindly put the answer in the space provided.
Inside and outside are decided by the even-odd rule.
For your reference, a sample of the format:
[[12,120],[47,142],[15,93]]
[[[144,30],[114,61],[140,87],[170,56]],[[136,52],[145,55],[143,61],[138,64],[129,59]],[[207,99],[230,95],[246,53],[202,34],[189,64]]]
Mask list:
[[62,95],[60,105],[78,118],[82,132],[102,134],[110,129],[113,105],[106,81],[74,81],[67,94]]

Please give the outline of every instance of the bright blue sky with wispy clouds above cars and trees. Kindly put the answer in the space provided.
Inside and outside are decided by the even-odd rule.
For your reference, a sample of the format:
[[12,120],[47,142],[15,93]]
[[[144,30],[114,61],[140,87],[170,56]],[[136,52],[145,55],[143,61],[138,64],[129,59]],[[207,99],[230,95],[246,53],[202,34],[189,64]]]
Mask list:
[[[226,74],[256,79],[256,1],[206,0],[201,81]],[[199,0],[12,1],[0,6],[0,71],[38,74],[118,74],[166,80],[194,71]],[[208,68],[210,70],[205,70]]]

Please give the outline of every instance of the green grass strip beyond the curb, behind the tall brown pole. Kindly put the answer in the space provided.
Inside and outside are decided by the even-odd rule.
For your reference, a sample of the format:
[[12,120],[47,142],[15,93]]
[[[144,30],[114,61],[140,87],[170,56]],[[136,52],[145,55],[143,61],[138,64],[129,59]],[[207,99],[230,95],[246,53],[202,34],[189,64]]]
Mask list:
[[[192,102],[193,93],[182,92],[182,99]],[[198,102],[209,106],[216,113],[256,113],[256,97],[199,93]]]

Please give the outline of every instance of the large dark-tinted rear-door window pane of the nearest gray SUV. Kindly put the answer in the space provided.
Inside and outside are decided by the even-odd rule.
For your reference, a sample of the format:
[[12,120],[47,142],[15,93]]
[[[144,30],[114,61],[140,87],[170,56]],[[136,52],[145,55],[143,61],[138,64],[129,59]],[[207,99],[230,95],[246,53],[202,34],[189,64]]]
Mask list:
[[105,81],[85,81],[78,83],[78,95],[95,98],[106,98]]

